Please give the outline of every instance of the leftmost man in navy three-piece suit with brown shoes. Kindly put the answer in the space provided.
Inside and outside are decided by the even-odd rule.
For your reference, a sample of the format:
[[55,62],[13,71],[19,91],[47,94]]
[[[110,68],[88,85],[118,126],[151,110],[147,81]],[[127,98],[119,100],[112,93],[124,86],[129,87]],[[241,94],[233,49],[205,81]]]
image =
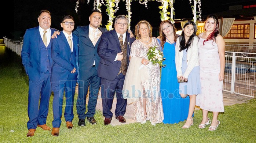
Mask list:
[[27,137],[34,136],[37,127],[51,130],[46,118],[51,96],[51,35],[55,29],[50,28],[49,11],[41,10],[37,20],[39,26],[26,30],[21,50],[22,64],[29,77]]

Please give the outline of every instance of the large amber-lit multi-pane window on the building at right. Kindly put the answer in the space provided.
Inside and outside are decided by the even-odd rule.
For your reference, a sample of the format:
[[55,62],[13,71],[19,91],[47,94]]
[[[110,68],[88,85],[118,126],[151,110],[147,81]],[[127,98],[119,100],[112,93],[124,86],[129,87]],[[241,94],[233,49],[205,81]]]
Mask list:
[[250,24],[235,24],[232,25],[230,31],[225,36],[229,39],[249,39]]

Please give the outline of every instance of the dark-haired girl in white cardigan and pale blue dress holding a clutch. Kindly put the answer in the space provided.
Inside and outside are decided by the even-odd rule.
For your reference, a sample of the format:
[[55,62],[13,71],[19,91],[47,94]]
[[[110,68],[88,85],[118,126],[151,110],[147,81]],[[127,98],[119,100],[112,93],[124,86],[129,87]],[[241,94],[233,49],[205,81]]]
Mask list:
[[189,128],[193,125],[193,113],[195,109],[195,97],[201,94],[198,57],[197,27],[193,21],[187,22],[182,29],[182,34],[177,38],[175,46],[175,64],[177,78],[183,80],[179,86],[179,93],[182,98],[189,95],[189,114],[187,121],[182,128]]

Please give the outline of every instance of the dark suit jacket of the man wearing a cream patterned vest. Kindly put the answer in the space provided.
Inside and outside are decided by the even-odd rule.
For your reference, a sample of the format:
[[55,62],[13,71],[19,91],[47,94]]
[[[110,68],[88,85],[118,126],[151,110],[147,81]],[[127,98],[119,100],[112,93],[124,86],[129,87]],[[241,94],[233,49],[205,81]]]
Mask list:
[[[99,30],[104,33],[107,31],[106,28],[99,27]],[[96,70],[98,70],[99,65],[99,55],[97,53],[97,48],[99,45],[100,38],[98,39],[95,46],[92,44],[89,38],[89,25],[88,26],[77,26],[77,29],[73,31],[73,35],[77,35],[79,38],[79,67],[80,71],[90,71],[92,65],[96,65]]]

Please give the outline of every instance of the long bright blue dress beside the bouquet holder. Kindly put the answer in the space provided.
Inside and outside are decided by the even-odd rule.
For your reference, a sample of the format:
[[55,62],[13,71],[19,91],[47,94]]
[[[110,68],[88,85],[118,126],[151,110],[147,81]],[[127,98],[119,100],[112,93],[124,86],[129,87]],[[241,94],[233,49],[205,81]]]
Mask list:
[[[159,39],[158,42],[160,42]],[[160,91],[164,110],[164,124],[184,121],[189,113],[189,96],[181,98],[179,94],[179,83],[175,66],[175,44],[165,42],[163,49],[165,57],[163,64],[166,67],[162,67]]]

